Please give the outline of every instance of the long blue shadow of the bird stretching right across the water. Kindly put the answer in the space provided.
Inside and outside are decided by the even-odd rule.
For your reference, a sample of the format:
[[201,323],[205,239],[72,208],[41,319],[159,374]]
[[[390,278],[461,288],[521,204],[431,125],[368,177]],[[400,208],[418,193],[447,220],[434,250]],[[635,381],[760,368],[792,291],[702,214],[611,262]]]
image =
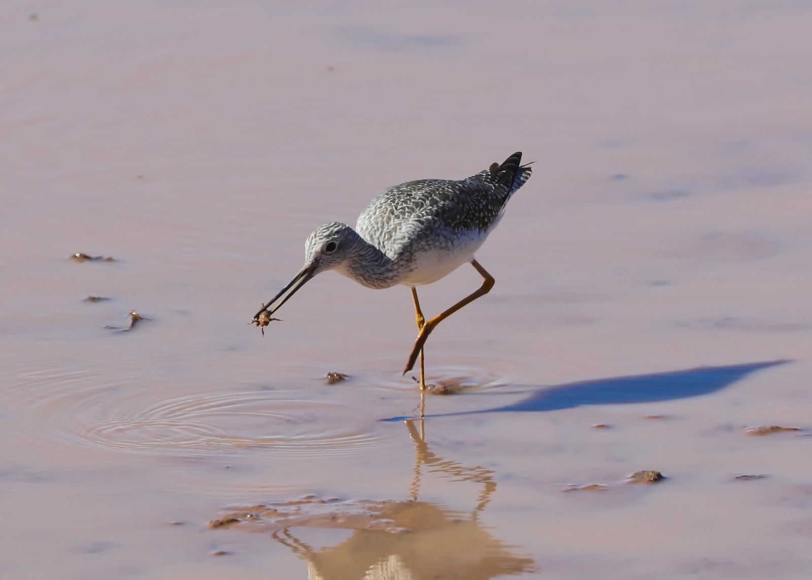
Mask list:
[[[691,396],[710,395],[744,379],[756,370],[782,365],[789,361],[749,362],[742,365],[702,366],[689,370],[673,370],[668,373],[636,374],[626,377],[594,379],[578,383],[565,383],[552,387],[540,387],[529,396],[511,405],[426,415],[433,417],[456,417],[479,413],[503,413],[518,411],[555,411],[572,409],[581,405],[624,405],[631,403],[654,403],[662,400],[686,399]],[[410,417],[392,417],[382,421],[403,421]]]

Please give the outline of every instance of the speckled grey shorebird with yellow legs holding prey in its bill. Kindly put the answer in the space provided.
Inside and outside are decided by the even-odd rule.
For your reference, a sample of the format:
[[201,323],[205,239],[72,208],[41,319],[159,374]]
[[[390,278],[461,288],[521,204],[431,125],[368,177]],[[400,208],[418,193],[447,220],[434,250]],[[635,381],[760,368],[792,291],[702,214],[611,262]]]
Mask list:
[[[313,276],[327,270],[354,279],[367,288],[404,284],[412,290],[417,340],[404,374],[420,357],[421,415],[425,392],[423,346],[443,319],[484,296],[494,278],[473,257],[502,219],[513,193],[532,171],[520,165],[521,153],[501,165],[464,180],[418,180],[395,185],[375,197],[358,217],[356,229],[346,223],[326,223],[304,243],[304,267],[279,294],[262,306],[252,322],[266,326],[274,314]],[[417,300],[417,286],[431,284],[465,262],[482,275],[482,286],[451,308],[425,320]],[[274,308],[274,302],[284,296]]]

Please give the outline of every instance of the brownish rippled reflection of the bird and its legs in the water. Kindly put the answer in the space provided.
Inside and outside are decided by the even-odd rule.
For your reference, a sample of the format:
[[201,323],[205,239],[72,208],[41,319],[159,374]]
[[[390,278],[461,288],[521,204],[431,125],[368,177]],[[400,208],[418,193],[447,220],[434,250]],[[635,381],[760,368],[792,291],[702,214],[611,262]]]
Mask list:
[[[307,561],[309,580],[484,580],[534,571],[531,558],[509,552],[479,522],[496,491],[494,472],[437,457],[425,443],[423,421],[415,422],[405,421],[417,451],[411,500],[364,502],[375,520],[387,522],[386,529],[356,529],[339,545],[321,549],[297,538],[291,527],[276,530],[274,539]],[[421,481],[431,473],[482,484],[473,511],[460,514],[419,500]]]

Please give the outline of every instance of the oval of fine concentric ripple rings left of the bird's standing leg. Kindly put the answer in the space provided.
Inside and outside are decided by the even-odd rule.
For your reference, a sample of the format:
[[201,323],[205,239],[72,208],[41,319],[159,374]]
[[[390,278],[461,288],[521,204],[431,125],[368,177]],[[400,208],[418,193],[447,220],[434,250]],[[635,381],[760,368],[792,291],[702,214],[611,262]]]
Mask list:
[[372,418],[358,409],[277,397],[214,392],[158,401],[131,413],[121,412],[116,397],[87,405],[81,420],[66,427],[82,444],[130,452],[275,451],[307,457],[361,452],[376,443]]

